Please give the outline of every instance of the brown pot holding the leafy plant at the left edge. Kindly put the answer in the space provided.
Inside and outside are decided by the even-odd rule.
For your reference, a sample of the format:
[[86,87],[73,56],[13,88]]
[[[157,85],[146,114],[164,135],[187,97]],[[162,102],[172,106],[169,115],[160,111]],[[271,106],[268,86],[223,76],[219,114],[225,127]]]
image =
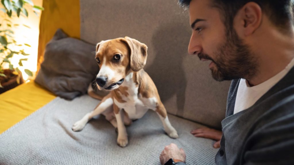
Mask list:
[[0,94],[3,93],[3,92],[6,92],[7,90],[10,90],[10,89],[12,89],[14,87],[17,87],[18,85],[20,85],[22,83],[24,83],[24,79],[22,78],[21,72],[19,72],[19,76],[20,76],[19,83],[17,83],[18,75],[13,75],[11,70],[5,69],[4,74],[5,75],[10,74],[10,76],[8,76],[9,79],[6,80],[6,82],[3,82],[3,80],[1,81],[1,85],[4,88],[0,88]]

